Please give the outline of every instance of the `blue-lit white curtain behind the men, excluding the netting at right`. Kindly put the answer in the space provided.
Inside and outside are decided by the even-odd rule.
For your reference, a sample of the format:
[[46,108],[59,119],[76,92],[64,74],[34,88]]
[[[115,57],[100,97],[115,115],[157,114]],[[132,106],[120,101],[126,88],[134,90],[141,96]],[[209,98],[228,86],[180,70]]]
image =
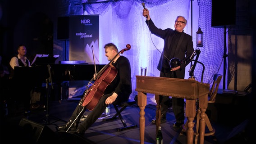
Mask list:
[[[131,45],[131,49],[123,53],[130,60],[132,68],[131,99],[137,94],[136,75],[140,75],[140,67],[147,67],[146,76],[160,75],[156,66],[164,46],[163,39],[150,33],[145,23],[146,18],[142,16],[142,2],[120,0],[81,4],[82,13],[85,8],[84,14],[100,14],[100,64],[109,63],[103,50],[106,43],[113,42],[119,51],[126,48],[127,44]],[[174,29],[174,21],[178,15],[187,19],[189,17],[190,0],[144,0],[144,3],[155,25],[162,29]],[[70,13],[74,11],[71,5]],[[187,33],[187,27],[184,31]],[[148,99],[154,101],[154,98]]]

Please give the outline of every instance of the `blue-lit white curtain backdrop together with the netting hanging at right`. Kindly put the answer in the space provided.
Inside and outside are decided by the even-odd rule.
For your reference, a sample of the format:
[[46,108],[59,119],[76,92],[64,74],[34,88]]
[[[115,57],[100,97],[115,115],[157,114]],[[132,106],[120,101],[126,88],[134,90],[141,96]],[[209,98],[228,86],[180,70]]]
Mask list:
[[[211,0],[71,0],[69,1],[70,15],[99,14],[99,61],[100,64],[108,64],[103,46],[113,42],[119,51],[131,45],[131,49],[123,53],[131,63],[133,99],[136,92],[136,76],[140,75],[141,68],[147,67],[146,76],[159,76],[157,64],[163,50],[164,40],[152,35],[146,25],[146,18],[142,16],[142,2],[149,9],[150,16],[155,25],[161,29],[174,29],[174,21],[178,15],[187,19],[184,29],[193,37],[194,49],[196,49],[196,31],[198,27],[204,32],[204,46],[200,47],[201,53],[198,61],[206,67],[203,78],[202,65],[197,63],[194,76],[197,81],[211,83],[212,76],[219,72],[222,63],[223,28],[211,27]],[[199,12],[198,12],[199,10]],[[193,13],[193,14],[192,14]],[[193,15],[192,16],[190,16]],[[194,22],[192,22],[194,21]],[[192,27],[193,25],[193,27]],[[192,32],[193,31],[193,32]],[[102,49],[102,50],[101,50]],[[185,79],[189,78],[189,69],[186,67]],[[155,103],[154,95],[148,97],[148,104]]]

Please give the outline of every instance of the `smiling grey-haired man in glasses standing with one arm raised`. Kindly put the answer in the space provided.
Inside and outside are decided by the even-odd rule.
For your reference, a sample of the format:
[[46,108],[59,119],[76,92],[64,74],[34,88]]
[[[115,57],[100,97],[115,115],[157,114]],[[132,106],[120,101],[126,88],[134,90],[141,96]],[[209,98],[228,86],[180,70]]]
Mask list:
[[[155,26],[150,18],[148,9],[143,9],[142,15],[146,17],[146,24],[155,36],[164,39],[164,49],[160,57],[157,69],[160,71],[160,77],[180,78],[185,77],[185,67],[188,63],[181,63],[178,67],[170,67],[172,58],[180,60],[187,59],[194,51],[192,36],[186,34],[183,29],[187,20],[183,16],[178,16],[175,20],[175,29],[167,28],[165,30]],[[161,105],[161,123],[166,121],[166,112],[168,110],[168,96],[160,96]],[[173,124],[174,130],[178,130],[184,124],[184,99],[172,97],[173,112],[176,122]]]

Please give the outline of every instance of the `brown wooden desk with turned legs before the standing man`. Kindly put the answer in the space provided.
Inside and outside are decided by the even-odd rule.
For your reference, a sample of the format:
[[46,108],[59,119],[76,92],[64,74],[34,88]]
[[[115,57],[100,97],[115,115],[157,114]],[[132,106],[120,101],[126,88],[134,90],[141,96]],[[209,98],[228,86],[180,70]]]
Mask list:
[[145,107],[146,95],[144,93],[155,94],[156,100],[156,131],[160,126],[160,105],[159,95],[172,96],[186,99],[187,116],[187,144],[193,144],[194,139],[194,117],[196,116],[196,99],[199,99],[201,109],[200,119],[200,144],[204,144],[204,133],[206,128],[206,108],[208,101],[209,84],[200,83],[194,79],[177,79],[155,76],[136,76],[136,91],[138,92],[138,106],[140,107],[140,141],[144,144],[145,136]]

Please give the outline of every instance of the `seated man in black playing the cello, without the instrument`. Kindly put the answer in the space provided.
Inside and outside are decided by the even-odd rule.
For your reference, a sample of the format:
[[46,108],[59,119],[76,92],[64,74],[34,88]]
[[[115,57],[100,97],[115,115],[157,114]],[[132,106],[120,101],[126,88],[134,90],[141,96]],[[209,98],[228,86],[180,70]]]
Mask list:
[[104,94],[102,94],[103,96],[101,96],[98,103],[96,103],[95,108],[80,125],[78,125],[80,118],[87,108],[78,104],[66,125],[59,126],[59,129],[66,131],[76,130],[75,134],[83,135],[98,117],[101,116],[109,104],[120,104],[129,99],[129,96],[132,93],[130,62],[128,58],[120,55],[116,45],[113,43],[106,44],[104,49],[105,56],[110,61],[111,67],[117,72],[116,76],[114,76],[113,81],[104,90]]

